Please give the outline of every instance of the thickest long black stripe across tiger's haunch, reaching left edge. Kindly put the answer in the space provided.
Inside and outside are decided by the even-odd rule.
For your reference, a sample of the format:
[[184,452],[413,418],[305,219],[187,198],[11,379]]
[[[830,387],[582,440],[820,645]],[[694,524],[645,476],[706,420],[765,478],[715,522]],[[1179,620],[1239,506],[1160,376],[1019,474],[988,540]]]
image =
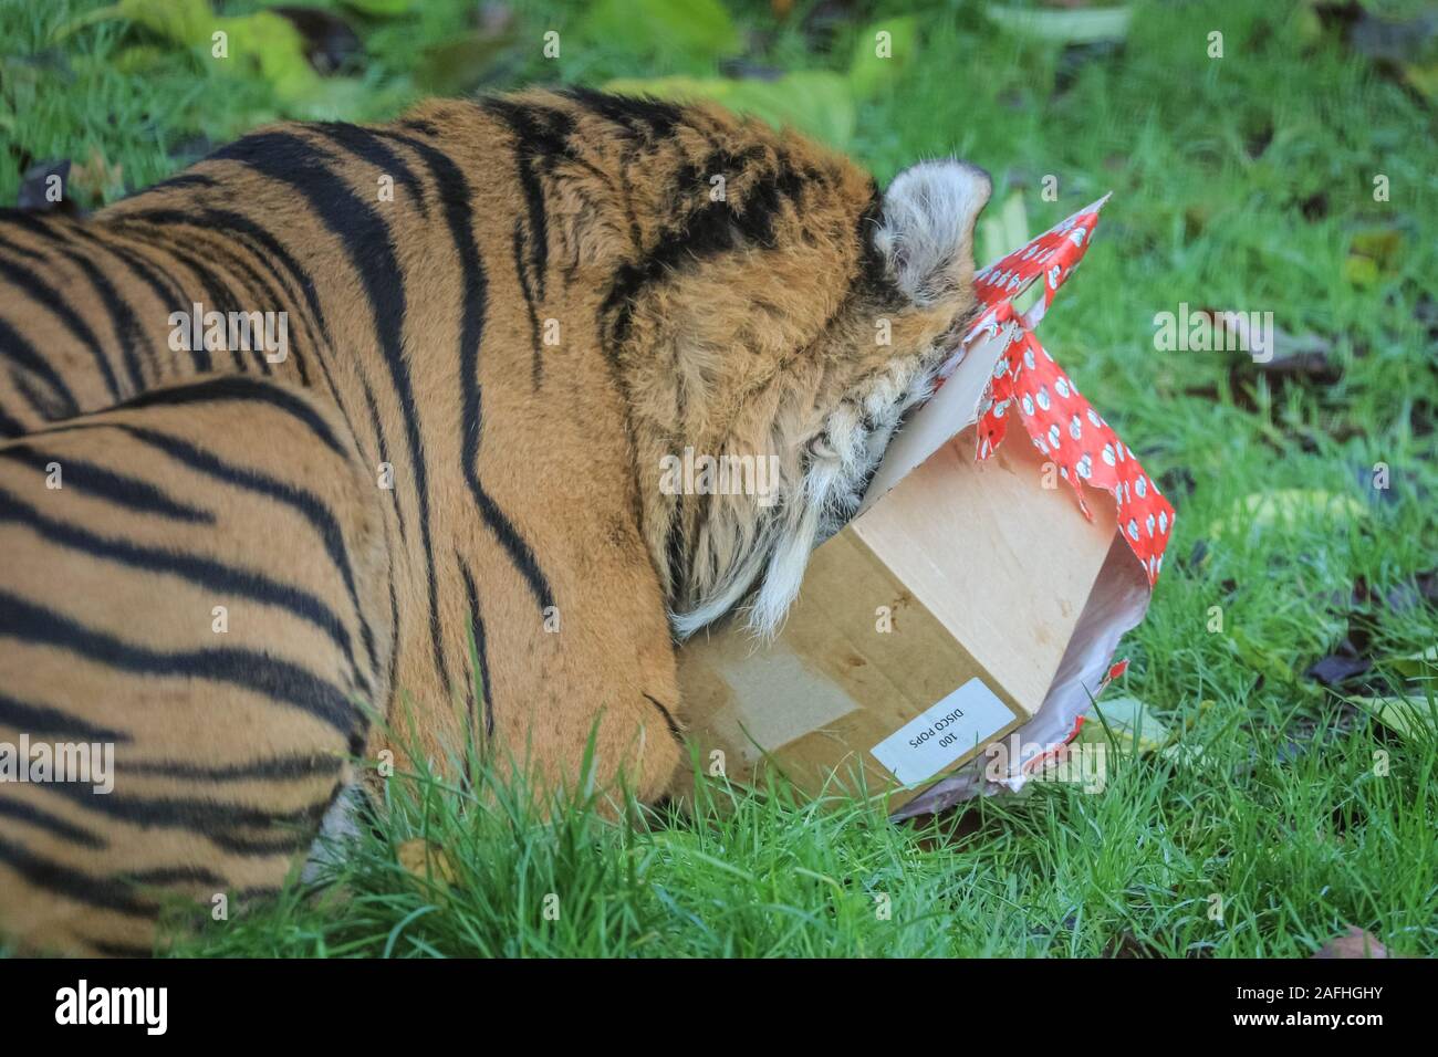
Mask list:
[[4,590],[0,590],[0,636],[53,646],[122,672],[206,679],[237,686],[270,700],[292,705],[345,736],[358,733],[365,726],[362,712],[351,705],[336,686],[298,664],[253,650],[232,647],[151,650],[83,627],[66,616],[35,605]]

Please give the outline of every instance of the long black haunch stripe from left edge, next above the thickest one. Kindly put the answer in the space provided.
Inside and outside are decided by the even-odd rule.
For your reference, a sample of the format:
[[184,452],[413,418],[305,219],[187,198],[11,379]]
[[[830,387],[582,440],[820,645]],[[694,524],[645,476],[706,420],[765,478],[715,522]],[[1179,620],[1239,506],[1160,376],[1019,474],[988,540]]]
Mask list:
[[[122,536],[102,536],[79,525],[40,513],[36,508],[0,489],[0,522],[12,521],[32,528],[47,544],[79,551],[101,561],[111,561],[150,572],[178,577],[209,591],[250,598],[262,605],[286,610],[313,624],[339,647],[354,667],[349,631],[325,603],[309,591],[273,580],[263,572],[226,565],[213,558],[171,548],[144,546]],[[368,680],[360,679],[362,689]]]

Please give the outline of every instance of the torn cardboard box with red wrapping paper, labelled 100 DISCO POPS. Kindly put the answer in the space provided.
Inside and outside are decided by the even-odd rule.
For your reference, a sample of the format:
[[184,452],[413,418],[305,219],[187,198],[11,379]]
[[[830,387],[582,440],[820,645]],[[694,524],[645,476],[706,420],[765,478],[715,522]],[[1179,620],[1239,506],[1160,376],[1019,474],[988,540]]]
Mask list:
[[[1071,263],[1054,273],[1032,247],[1054,246],[1054,232],[1005,257],[1030,252],[1027,270],[1048,276],[1050,298]],[[1083,249],[1068,255],[1073,263]],[[778,767],[814,795],[887,792],[899,814],[1017,788],[1025,765],[1074,729],[1119,637],[1142,618],[1156,562],[1136,555],[1120,525],[1126,485],[1089,469],[1087,480],[1116,485],[1114,503],[1081,483],[1077,449],[1044,441],[1047,418],[1031,400],[1034,443],[997,444],[1005,408],[995,406],[995,377],[1022,378],[1025,352],[1043,352],[1030,331],[1047,308],[1045,299],[1018,316],[1011,302],[1027,282],[999,269],[995,283],[997,267],[981,273],[991,312],[892,441],[858,515],[811,557],[779,637],[764,646],[720,624],[680,650],[692,738],[702,762],[722,762],[729,778],[755,781]],[[1022,395],[1008,397],[1011,417]],[[1073,398],[1102,421],[1076,390]],[[1114,463],[1132,459],[1113,437],[1104,462],[1114,447]],[[986,457],[975,459],[976,449]],[[1166,538],[1172,509],[1162,509]],[[1012,751],[982,758],[1015,732]]]

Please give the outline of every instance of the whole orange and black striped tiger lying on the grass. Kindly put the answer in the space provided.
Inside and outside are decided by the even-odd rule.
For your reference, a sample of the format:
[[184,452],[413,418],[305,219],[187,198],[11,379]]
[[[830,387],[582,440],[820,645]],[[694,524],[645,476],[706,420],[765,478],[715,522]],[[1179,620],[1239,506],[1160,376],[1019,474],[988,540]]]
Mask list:
[[[781,627],[975,315],[989,193],[571,88],[0,214],[0,933],[144,956],[175,902],[275,893],[401,708],[411,754],[663,798],[676,650]],[[771,490],[666,486],[686,450]],[[112,788],[14,781],[33,745]]]

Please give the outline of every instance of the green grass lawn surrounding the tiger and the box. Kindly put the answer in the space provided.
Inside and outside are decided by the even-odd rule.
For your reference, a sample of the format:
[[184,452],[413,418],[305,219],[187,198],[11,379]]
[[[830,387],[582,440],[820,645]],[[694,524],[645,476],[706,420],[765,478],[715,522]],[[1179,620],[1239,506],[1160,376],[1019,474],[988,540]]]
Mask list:
[[[119,24],[47,43],[89,7],[0,0],[0,201],[22,157],[98,148],[142,186],[283,109],[184,53],[116,72],[138,39]],[[456,32],[462,7],[362,26],[367,92],[344,114],[384,116],[416,95],[410,65]],[[860,800],[722,787],[693,815],[615,824],[581,804],[546,824],[515,794],[480,808],[433,779],[391,779],[391,811],[329,896],[296,886],[183,952],[1301,956],[1352,923],[1396,952],[1438,953],[1435,742],[1303,677],[1342,640],[1355,585],[1382,600],[1438,554],[1432,111],[1300,6],[1140,4],[1125,47],[1087,60],[994,32],[975,4],[880,9],[909,10],[925,13],[922,49],[860,102],[860,161],[887,178],[919,157],[972,158],[995,201],[1024,196],[1034,232],[1114,191],[1041,332],[1179,511],[1149,617],[1120,647],[1133,662],[1120,690],[1202,762],[1110,756],[1102,794],[1037,785],[922,825]],[[519,17],[533,37],[574,22],[554,6]],[[854,32],[824,52],[768,6],[739,17],[752,62],[785,69],[841,68],[830,56],[847,56]],[[1205,55],[1215,29],[1221,60]],[[656,72],[693,70],[600,42],[551,65],[521,55],[492,83]],[[1040,196],[1045,174],[1057,201]],[[1389,201],[1373,200],[1376,174]],[[1346,262],[1373,233],[1396,250],[1356,282]],[[1277,384],[1238,354],[1155,351],[1153,315],[1179,302],[1271,311],[1283,331],[1322,335],[1336,380]],[[1370,486],[1375,463],[1388,490]],[[1360,512],[1225,523],[1283,489],[1350,496]],[[1208,630],[1215,605],[1221,633]],[[1378,601],[1372,614],[1382,689],[1396,659],[1438,641],[1438,613]],[[443,848],[453,883],[398,864],[418,836]]]

